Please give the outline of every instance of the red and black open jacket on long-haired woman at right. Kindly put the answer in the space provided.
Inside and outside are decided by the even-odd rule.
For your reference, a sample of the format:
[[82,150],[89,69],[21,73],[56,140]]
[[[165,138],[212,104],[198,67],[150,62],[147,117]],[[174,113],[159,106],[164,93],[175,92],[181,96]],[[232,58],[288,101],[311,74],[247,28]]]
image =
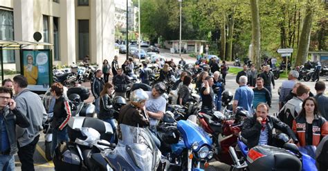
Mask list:
[[[307,120],[305,117],[297,117],[293,121],[293,131],[298,137],[300,146],[306,145],[305,134],[307,129]],[[328,134],[328,122],[325,118],[315,115],[312,122],[312,145],[318,146],[321,139]]]

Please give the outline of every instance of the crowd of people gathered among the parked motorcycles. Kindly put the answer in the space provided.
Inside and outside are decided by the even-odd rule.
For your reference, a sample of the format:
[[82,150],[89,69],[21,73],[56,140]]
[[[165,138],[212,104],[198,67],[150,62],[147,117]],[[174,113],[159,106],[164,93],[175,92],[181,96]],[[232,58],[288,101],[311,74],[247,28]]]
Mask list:
[[[199,59],[203,67],[196,81],[196,89],[201,96],[201,112],[213,113],[221,111],[221,95],[226,86],[228,66],[222,61],[211,59],[209,62]],[[180,65],[185,65],[183,59]],[[149,74],[152,73],[147,63],[142,63],[140,79],[149,84]],[[166,99],[162,96],[167,90],[165,81],[176,67],[173,59],[167,61],[160,70],[159,81],[152,86],[151,91],[134,90],[129,97],[129,103],[123,106],[115,116],[110,112],[114,97],[126,98],[127,84],[131,83],[128,76],[134,72],[134,61],[129,59],[120,67],[118,57],[114,57],[111,65],[104,60],[102,69],[96,70],[95,78],[91,81],[91,92],[95,98],[95,108],[98,119],[111,124],[113,130],[120,130],[119,124],[148,127],[156,132],[156,125],[163,118],[166,110]],[[109,77],[111,76],[111,77]],[[111,81],[110,81],[111,80]],[[174,83],[172,90],[176,90],[176,103],[185,105],[190,99],[190,84],[192,77],[187,72],[181,72],[179,79]],[[279,96],[280,112],[277,117],[268,114],[272,105],[272,88],[275,88],[270,66],[264,66],[262,72],[257,72],[255,66],[243,67],[238,72],[236,82],[239,88],[233,99],[233,112],[237,107],[247,110],[253,117],[247,118],[242,126],[242,136],[248,139],[248,148],[258,144],[271,144],[273,128],[281,130],[291,137],[297,145],[318,145],[320,140],[328,134],[328,97],[325,97],[325,82],[316,82],[316,95],[313,96],[310,88],[298,82],[298,72],[291,70],[288,80],[282,82]],[[2,170],[15,170],[13,154],[17,152],[21,161],[21,170],[34,170],[33,154],[39,141],[42,124],[47,119],[44,105],[37,94],[31,92],[28,79],[17,75],[13,80],[6,79],[0,88],[0,166]],[[271,86],[272,84],[272,86]],[[113,92],[115,91],[115,94]],[[60,141],[68,141],[66,125],[71,118],[69,100],[63,94],[61,83],[53,83],[51,94],[55,97],[53,108],[53,149]],[[33,99],[31,101],[30,99]],[[16,130],[16,131],[12,131]],[[119,137],[119,134],[118,134]],[[156,139],[156,145],[161,142]],[[113,141],[113,139],[111,139]]]

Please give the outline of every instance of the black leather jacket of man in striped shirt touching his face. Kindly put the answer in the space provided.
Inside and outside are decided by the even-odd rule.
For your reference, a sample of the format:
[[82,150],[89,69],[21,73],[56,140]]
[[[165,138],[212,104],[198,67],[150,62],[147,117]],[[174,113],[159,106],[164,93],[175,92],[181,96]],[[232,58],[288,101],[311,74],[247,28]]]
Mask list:
[[[297,142],[293,130],[289,128],[286,123],[283,123],[279,119],[271,116],[267,116],[266,125],[268,126],[268,145],[272,143],[272,130],[273,128],[281,130],[285,134],[288,134],[294,142]],[[242,128],[242,137],[247,139],[247,147],[253,148],[259,143],[259,134],[261,133],[262,125],[258,121],[256,121],[256,114],[253,117],[245,119]]]

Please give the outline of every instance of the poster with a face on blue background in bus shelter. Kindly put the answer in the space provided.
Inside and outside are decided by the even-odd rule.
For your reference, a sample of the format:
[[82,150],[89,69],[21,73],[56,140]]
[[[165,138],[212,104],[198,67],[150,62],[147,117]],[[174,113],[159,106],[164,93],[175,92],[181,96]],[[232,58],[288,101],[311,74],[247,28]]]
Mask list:
[[33,91],[46,91],[51,83],[50,50],[22,50],[21,74]]

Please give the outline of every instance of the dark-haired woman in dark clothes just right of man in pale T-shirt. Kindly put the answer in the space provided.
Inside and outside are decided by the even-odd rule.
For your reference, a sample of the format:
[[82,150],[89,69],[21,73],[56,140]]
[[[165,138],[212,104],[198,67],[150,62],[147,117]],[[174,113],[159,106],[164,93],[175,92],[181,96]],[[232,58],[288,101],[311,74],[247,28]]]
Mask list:
[[186,75],[183,77],[183,85],[180,86],[178,91],[178,97],[179,97],[179,104],[185,105],[188,101],[191,99],[191,92],[189,85],[191,83],[191,77]]

